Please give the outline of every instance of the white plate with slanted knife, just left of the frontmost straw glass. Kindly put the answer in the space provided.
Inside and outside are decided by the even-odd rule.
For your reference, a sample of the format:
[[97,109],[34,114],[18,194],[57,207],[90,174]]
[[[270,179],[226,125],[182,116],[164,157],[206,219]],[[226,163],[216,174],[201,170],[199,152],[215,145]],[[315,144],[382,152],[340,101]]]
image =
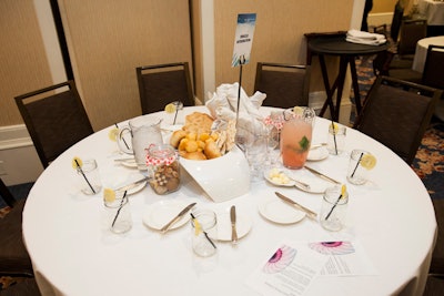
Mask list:
[[[160,231],[167,223],[175,217],[190,202],[188,201],[160,201],[150,205],[143,213],[143,224],[148,227]],[[190,214],[185,214],[170,229],[183,226],[190,221]]]

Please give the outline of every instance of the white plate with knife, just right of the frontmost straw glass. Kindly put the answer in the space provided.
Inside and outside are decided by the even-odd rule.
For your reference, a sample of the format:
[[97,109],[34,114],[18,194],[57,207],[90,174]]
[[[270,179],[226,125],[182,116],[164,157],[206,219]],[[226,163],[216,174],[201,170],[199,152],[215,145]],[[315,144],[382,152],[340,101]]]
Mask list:
[[[244,237],[251,229],[252,221],[250,217],[236,213],[238,239]],[[231,220],[230,213],[218,213],[218,237],[210,234],[210,237],[218,241],[231,241]]]

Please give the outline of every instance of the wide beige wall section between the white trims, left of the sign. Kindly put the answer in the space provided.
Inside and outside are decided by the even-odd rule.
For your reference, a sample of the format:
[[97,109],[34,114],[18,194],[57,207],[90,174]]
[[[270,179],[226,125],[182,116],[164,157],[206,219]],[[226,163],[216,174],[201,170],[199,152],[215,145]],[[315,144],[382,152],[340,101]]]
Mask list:
[[94,130],[141,114],[137,67],[191,64],[188,0],[62,0],[60,6]]

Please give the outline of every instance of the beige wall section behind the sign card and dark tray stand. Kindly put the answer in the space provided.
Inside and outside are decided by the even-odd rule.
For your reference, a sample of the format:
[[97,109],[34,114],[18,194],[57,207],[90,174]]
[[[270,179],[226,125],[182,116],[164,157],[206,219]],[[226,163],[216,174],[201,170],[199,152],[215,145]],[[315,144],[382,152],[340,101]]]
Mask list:
[[[256,62],[305,64],[306,42],[303,34],[349,30],[353,8],[353,0],[215,0],[214,3],[216,85],[239,80],[239,68],[231,68],[238,13],[258,14],[251,62],[244,67],[242,76],[242,85],[250,94],[254,86]],[[320,73],[314,71],[313,76],[312,90],[323,90]]]

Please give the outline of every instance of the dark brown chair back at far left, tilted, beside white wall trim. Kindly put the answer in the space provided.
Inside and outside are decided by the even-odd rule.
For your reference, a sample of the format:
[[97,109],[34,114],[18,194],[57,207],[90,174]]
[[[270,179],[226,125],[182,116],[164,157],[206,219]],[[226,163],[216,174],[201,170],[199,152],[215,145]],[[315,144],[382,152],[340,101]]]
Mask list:
[[73,80],[16,96],[43,167],[93,133]]

